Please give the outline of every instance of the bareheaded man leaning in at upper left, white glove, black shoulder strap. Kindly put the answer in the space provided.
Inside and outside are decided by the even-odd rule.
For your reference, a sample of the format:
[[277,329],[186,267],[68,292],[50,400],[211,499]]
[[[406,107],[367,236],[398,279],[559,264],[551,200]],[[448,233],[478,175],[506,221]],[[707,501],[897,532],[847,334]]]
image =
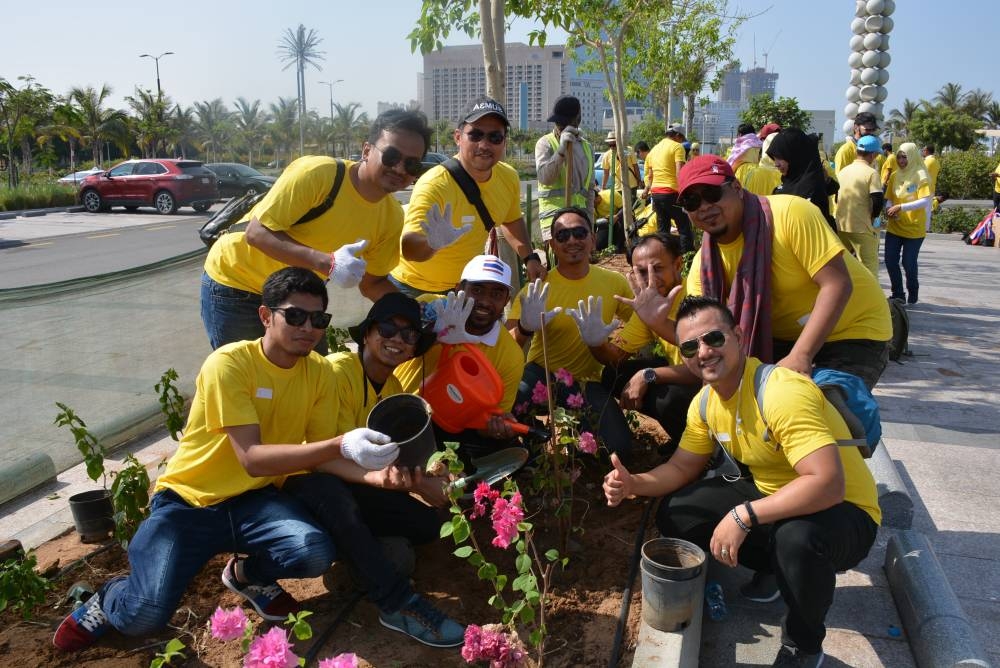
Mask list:
[[[430,135],[420,112],[380,115],[361,161],[345,161],[332,206],[302,224],[296,221],[330,196],[337,161],[305,156],[290,164],[248,214],[246,231],[222,235],[208,252],[201,319],[212,348],[263,335],[261,286],[283,266],[311,269],[339,288],[358,286],[372,300],[395,290],[386,275],[399,261],[403,210],[390,195],[419,176]],[[325,338],[318,345],[326,352]]]

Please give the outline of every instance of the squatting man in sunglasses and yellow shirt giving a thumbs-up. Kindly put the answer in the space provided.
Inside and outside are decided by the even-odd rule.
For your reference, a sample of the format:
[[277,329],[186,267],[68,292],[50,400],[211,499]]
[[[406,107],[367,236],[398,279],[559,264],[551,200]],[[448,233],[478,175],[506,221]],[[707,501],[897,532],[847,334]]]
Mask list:
[[[875,480],[857,448],[837,445],[850,432],[809,378],[775,368],[760,414],[761,362],[744,354],[742,336],[718,301],[681,303],[679,349],[705,381],[705,401],[691,402],[680,447],[665,464],[633,474],[612,456],[604,494],[610,506],[667,495],[656,517],[664,536],[697,544],[723,566],[754,570],[741,588],[746,598],[784,599],[774,665],[819,666],[837,572],[867,556],[882,519]],[[700,479],[717,445],[733,475]],[[736,463],[752,477],[741,477]]]

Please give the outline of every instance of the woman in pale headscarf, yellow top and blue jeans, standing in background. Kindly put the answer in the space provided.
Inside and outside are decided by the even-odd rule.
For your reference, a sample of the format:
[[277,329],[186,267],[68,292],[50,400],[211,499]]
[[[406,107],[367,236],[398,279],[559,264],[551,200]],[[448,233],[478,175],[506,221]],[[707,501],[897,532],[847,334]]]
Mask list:
[[[890,299],[905,298],[908,304],[916,304],[920,290],[917,256],[930,226],[932,193],[924,159],[916,144],[901,145],[896,151],[896,163],[896,171],[885,188],[885,215],[889,221],[885,233],[885,269],[892,285]],[[900,255],[906,272],[905,295]]]

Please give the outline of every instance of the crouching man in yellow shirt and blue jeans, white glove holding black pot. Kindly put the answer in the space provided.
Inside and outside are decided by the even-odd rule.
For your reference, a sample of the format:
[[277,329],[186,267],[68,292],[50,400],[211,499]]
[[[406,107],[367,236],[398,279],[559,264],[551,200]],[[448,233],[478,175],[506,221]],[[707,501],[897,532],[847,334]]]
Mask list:
[[269,621],[298,603],[281,578],[324,573],[335,549],[323,528],[276,484],[286,475],[349,459],[383,469],[399,448],[367,429],[336,436],[330,366],[313,353],[330,322],[313,272],[286,267],[263,284],[264,336],[223,346],[198,374],[177,452],[156,482],[150,515],[129,543],[132,572],[107,582],[56,630],[79,651],[114,628],[151,635],[165,627],[188,583],[216,554],[240,553],[227,588]]

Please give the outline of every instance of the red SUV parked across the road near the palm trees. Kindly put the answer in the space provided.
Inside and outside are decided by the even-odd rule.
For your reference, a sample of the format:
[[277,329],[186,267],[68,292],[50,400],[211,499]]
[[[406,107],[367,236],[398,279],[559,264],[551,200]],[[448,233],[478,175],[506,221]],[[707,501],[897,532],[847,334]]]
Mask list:
[[91,213],[113,206],[152,206],[164,214],[182,206],[207,211],[218,199],[217,178],[199,160],[128,160],[80,184],[80,201]]

